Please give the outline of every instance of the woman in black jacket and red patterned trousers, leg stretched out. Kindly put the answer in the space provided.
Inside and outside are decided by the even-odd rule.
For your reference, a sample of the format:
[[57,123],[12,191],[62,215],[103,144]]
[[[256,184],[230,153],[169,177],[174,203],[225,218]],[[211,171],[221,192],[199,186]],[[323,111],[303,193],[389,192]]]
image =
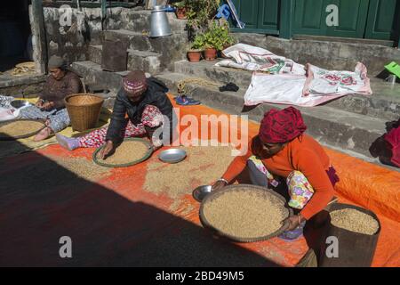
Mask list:
[[[124,137],[147,135],[153,149],[172,142],[175,117],[168,88],[154,77],[146,78],[143,71],[130,72],[116,95],[111,123],[79,138],[57,134],[57,141],[66,149],[106,146],[100,153],[105,159],[123,142]],[[164,136],[164,137],[163,137]]]

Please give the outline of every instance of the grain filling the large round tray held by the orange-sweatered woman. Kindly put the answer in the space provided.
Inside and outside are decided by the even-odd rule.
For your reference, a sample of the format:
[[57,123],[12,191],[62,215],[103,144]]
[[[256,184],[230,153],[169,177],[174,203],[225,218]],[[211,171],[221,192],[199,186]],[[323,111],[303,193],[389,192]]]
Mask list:
[[239,239],[255,239],[278,231],[289,215],[284,201],[268,191],[226,191],[204,204],[204,218],[213,228]]

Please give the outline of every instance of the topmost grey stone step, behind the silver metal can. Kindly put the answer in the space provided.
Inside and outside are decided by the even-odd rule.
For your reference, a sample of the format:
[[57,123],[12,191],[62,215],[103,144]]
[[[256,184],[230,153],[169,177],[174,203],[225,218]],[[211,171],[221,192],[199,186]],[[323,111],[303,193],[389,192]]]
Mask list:
[[[186,33],[185,28],[188,20],[179,20],[176,18],[174,12],[166,13],[172,33],[180,34]],[[133,32],[148,32],[150,26],[151,11],[132,11],[122,15],[122,27],[124,29],[132,30]]]

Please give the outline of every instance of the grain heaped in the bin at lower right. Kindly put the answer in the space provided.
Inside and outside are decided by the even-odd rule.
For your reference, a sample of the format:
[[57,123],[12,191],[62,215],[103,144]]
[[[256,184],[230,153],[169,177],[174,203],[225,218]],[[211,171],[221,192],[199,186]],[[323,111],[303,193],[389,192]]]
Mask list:
[[373,235],[378,232],[380,225],[372,216],[364,214],[353,208],[333,211],[331,223],[338,228],[350,232],[358,232]]

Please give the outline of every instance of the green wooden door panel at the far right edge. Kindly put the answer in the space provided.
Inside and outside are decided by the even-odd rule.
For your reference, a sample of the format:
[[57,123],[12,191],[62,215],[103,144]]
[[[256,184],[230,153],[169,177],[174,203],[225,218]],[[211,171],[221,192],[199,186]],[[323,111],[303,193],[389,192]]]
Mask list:
[[394,40],[399,22],[400,1],[370,0],[370,11],[365,30],[365,37]]

